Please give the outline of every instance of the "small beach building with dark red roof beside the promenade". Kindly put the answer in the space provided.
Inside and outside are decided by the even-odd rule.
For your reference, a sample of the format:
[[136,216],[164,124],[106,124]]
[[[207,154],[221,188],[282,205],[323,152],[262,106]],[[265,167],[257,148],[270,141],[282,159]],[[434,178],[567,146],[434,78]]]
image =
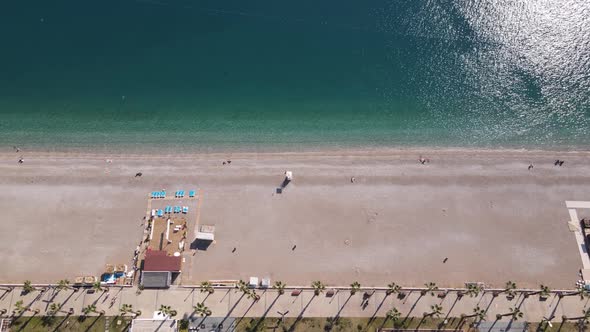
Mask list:
[[181,257],[168,256],[164,250],[148,249],[143,262],[141,285],[144,288],[168,288],[180,274]]

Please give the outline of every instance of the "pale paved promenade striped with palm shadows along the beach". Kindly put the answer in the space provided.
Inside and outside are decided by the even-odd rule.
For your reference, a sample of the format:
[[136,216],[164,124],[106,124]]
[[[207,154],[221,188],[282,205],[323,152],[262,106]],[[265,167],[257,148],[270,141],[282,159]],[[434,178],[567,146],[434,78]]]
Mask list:
[[[314,296],[312,290],[304,290],[299,296],[291,296],[287,289],[285,294],[279,295],[276,290],[257,290],[260,300],[253,301],[244,296],[237,289],[215,289],[213,294],[202,293],[199,288],[173,287],[168,290],[143,290],[136,293],[136,288],[111,288],[108,293],[88,293],[86,290],[74,292],[71,289],[57,291],[50,289],[45,292],[33,291],[27,295],[21,295],[21,289],[15,288],[7,292],[0,290],[0,310],[6,309],[4,316],[10,315],[17,301],[22,300],[31,311],[23,315],[34,314],[35,309],[43,315],[49,309],[51,303],[62,304],[62,310],[73,308],[74,315],[81,315],[82,309],[95,304],[98,311],[104,310],[105,315],[115,316],[120,314],[119,309],[123,304],[131,304],[134,310],[141,310],[141,317],[152,317],[160,305],[170,306],[178,312],[175,317],[181,319],[196,316],[193,310],[199,302],[204,302],[212,310],[212,316],[216,317],[278,317],[279,312],[287,313],[287,317],[373,317],[385,316],[386,312],[395,307],[402,317],[421,317],[424,312],[429,312],[431,305],[440,304],[443,308],[442,317],[458,317],[461,314],[470,315],[473,308],[479,306],[487,310],[487,320],[494,320],[496,314],[507,314],[509,308],[519,307],[523,312],[523,319],[538,322],[547,317],[554,317],[560,321],[562,315],[569,317],[581,316],[582,311],[588,305],[588,299],[580,299],[580,296],[566,296],[562,299],[552,293],[546,301],[540,301],[538,295],[524,298],[517,295],[513,300],[507,300],[505,294],[493,297],[486,292],[476,297],[463,296],[457,298],[454,292],[445,298],[427,294],[421,296],[419,291],[412,291],[405,299],[399,299],[396,295],[387,296],[385,291],[376,291],[363,304],[364,291],[358,291],[351,295],[349,290],[339,290],[333,297],[327,297],[325,293]],[[407,291],[406,291],[407,292]],[[108,294],[108,297],[107,297]],[[111,300],[116,297],[111,306]],[[60,313],[59,315],[64,315]],[[96,315],[96,314],[92,314]],[[507,318],[505,318],[507,319]]]

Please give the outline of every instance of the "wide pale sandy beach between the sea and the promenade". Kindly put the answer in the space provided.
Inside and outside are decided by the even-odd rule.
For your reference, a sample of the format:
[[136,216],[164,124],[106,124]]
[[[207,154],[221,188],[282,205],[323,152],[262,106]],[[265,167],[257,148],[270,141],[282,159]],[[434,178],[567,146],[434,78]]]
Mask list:
[[[419,155],[431,162],[421,165]],[[562,167],[553,165],[558,158]],[[294,181],[276,194],[285,170]],[[571,288],[581,260],[564,201],[590,200],[589,185],[590,154],[583,152],[6,150],[0,282],[55,282],[128,263],[147,193],[200,188],[200,220],[215,225],[216,243],[190,255],[185,283],[270,276],[290,285],[514,280]]]

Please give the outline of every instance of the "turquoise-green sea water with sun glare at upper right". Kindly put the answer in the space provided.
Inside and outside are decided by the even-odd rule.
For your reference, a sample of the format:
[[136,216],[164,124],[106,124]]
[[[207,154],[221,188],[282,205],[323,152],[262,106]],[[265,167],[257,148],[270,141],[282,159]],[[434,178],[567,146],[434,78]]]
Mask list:
[[590,147],[590,2],[0,2],[0,142]]

